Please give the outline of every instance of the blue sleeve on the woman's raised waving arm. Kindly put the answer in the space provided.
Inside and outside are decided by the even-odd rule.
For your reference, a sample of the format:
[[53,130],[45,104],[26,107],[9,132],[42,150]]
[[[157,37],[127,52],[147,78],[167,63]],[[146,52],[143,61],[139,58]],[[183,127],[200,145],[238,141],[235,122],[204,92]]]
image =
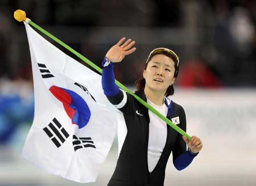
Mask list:
[[102,62],[101,84],[106,96],[114,96],[119,92],[119,87],[115,84],[114,64],[106,57]]

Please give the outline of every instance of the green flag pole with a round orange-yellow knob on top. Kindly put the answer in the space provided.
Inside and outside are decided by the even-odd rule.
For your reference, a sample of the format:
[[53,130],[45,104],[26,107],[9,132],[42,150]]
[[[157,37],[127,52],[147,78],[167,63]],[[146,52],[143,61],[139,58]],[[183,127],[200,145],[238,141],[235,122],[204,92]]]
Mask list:
[[[32,22],[30,19],[26,18],[26,12],[24,12],[23,10],[16,10],[14,12],[14,18],[16,20],[18,20],[19,22],[25,21],[28,24],[30,24],[31,26],[35,27],[36,29],[38,29],[40,32],[44,33],[45,35],[47,35],[48,37],[50,37],[52,40],[56,41],[57,43],[59,43],[61,46],[63,46],[65,49],[68,49],[70,52],[72,52],[73,54],[75,54],[77,57],[79,57],[82,61],[86,62],[86,64],[90,65],[91,67],[93,67],[93,69],[97,70],[99,73],[102,74],[102,69],[100,67],[98,67],[97,65],[95,65],[92,61],[88,60],[86,57],[82,56],[82,54],[76,52],[76,50],[72,49],[70,46],[68,46],[67,44],[65,44],[63,41],[57,39],[57,37],[51,35],[51,33],[47,32],[45,29],[43,29],[42,27],[38,26],[37,24],[35,24],[34,22]],[[169,119],[167,119],[165,116],[163,116],[161,113],[159,113],[154,107],[152,107],[150,104],[148,104],[147,102],[145,102],[143,99],[139,98],[139,96],[137,96],[136,94],[134,94],[132,91],[130,91],[127,87],[125,87],[122,83],[118,82],[115,79],[115,84],[117,84],[118,87],[120,87],[122,90],[128,92],[130,95],[134,96],[135,99],[138,100],[139,103],[143,104],[146,108],[148,108],[150,111],[152,111],[153,113],[155,113],[156,116],[158,116],[160,119],[162,119],[164,122],[166,122],[168,125],[170,125],[173,129],[175,129],[178,133],[180,133],[182,136],[185,136],[188,138],[188,140],[191,139],[191,137],[184,132],[184,130],[182,130],[181,128],[179,128],[179,126],[175,125],[173,122],[171,122]]]

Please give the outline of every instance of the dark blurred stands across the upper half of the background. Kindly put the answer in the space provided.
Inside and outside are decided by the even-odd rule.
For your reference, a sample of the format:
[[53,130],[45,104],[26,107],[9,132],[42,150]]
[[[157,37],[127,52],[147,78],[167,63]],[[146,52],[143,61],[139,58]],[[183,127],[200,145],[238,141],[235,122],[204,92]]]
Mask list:
[[127,69],[143,65],[148,48],[172,45],[181,64],[204,56],[224,86],[256,86],[255,5],[249,0],[1,1],[0,77],[13,79],[31,71],[20,73],[30,56],[24,27],[12,17],[14,10],[24,9],[34,22],[98,66],[108,46],[123,35],[132,36],[140,52],[115,68],[124,84],[134,83],[138,68],[133,73]]

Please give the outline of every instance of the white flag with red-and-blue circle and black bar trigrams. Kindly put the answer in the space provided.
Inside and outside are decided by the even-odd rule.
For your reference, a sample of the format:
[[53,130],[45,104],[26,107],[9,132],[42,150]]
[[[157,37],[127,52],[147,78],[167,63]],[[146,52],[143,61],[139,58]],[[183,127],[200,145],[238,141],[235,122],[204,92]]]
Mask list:
[[96,181],[112,146],[117,112],[101,76],[57,49],[27,23],[35,114],[23,158],[80,183]]

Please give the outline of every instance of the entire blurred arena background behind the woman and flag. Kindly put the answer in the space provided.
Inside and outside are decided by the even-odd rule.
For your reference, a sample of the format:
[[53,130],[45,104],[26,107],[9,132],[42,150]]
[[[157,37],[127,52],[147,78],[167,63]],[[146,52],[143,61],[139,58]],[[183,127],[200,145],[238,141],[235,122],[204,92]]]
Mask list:
[[[21,157],[34,95],[27,35],[13,18],[16,9],[98,66],[121,37],[135,40],[137,51],[115,65],[115,78],[131,90],[152,49],[174,50],[180,71],[171,99],[184,107],[187,132],[204,147],[183,171],[175,170],[171,156],[165,185],[256,185],[256,1],[1,0],[1,186],[81,185]],[[84,185],[107,185],[117,149],[115,140],[96,183]]]

